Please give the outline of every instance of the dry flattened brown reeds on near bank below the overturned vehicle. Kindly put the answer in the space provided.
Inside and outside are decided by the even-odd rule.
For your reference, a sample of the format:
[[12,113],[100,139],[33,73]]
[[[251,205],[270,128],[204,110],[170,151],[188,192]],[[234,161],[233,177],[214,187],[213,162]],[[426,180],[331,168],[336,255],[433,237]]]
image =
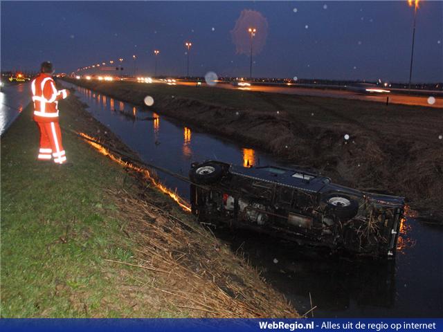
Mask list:
[[270,291],[257,270],[191,217],[178,217],[164,202],[111,192],[136,241],[134,261],[108,260],[159,275],[147,282],[192,317],[299,317],[284,297]]

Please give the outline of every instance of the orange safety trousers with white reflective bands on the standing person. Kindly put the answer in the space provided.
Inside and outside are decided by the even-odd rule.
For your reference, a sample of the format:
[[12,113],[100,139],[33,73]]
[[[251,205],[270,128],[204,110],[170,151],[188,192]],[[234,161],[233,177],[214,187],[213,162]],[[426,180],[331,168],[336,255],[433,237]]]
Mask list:
[[40,129],[39,160],[51,160],[57,164],[66,162],[62,145],[62,132],[58,122],[37,122]]

